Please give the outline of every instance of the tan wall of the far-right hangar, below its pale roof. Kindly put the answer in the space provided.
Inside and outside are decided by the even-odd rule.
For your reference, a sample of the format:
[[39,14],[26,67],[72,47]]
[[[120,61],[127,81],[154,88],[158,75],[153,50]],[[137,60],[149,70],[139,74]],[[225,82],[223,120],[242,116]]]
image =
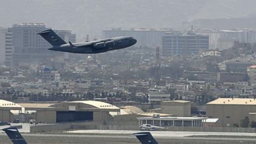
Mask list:
[[[206,104],[206,115],[210,118],[219,118],[221,126],[240,126],[241,120],[249,117],[249,113],[256,111],[256,105],[242,104]],[[251,121],[251,120],[250,120]]]

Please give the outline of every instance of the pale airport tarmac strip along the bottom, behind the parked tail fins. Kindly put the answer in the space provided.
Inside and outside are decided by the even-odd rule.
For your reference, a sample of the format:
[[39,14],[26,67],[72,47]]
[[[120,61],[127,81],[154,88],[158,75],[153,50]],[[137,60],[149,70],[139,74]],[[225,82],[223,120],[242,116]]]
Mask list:
[[[133,130],[73,130],[63,133],[22,133],[28,143],[140,143]],[[256,143],[256,133],[151,131],[159,143]],[[0,132],[0,143],[11,143]]]

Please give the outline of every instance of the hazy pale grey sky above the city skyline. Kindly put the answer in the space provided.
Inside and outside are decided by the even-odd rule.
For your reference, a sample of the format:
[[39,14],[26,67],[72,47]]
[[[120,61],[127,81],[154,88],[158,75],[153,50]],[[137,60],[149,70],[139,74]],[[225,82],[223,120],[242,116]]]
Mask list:
[[175,28],[197,18],[254,17],[254,0],[0,0],[0,27],[45,23],[79,39],[110,28]]

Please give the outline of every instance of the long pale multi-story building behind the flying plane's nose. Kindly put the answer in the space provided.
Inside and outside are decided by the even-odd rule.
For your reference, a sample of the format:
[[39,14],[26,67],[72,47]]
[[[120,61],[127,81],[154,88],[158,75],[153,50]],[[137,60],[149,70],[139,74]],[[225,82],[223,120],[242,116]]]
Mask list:
[[108,37],[119,37],[119,36],[130,36],[134,37],[137,40],[135,46],[147,46],[147,47],[161,47],[162,46],[162,36],[168,31],[172,31],[169,29],[131,29],[131,30],[121,30],[121,28],[113,28],[112,30],[104,30],[103,38]]

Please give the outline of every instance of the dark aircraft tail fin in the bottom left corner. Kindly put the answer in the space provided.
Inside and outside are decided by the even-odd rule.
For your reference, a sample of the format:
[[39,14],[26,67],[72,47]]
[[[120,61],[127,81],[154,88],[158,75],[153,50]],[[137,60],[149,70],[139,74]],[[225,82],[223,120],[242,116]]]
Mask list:
[[11,139],[12,143],[14,144],[27,144],[23,136],[21,136],[20,132],[16,127],[7,127],[4,130],[7,133],[9,139]]

